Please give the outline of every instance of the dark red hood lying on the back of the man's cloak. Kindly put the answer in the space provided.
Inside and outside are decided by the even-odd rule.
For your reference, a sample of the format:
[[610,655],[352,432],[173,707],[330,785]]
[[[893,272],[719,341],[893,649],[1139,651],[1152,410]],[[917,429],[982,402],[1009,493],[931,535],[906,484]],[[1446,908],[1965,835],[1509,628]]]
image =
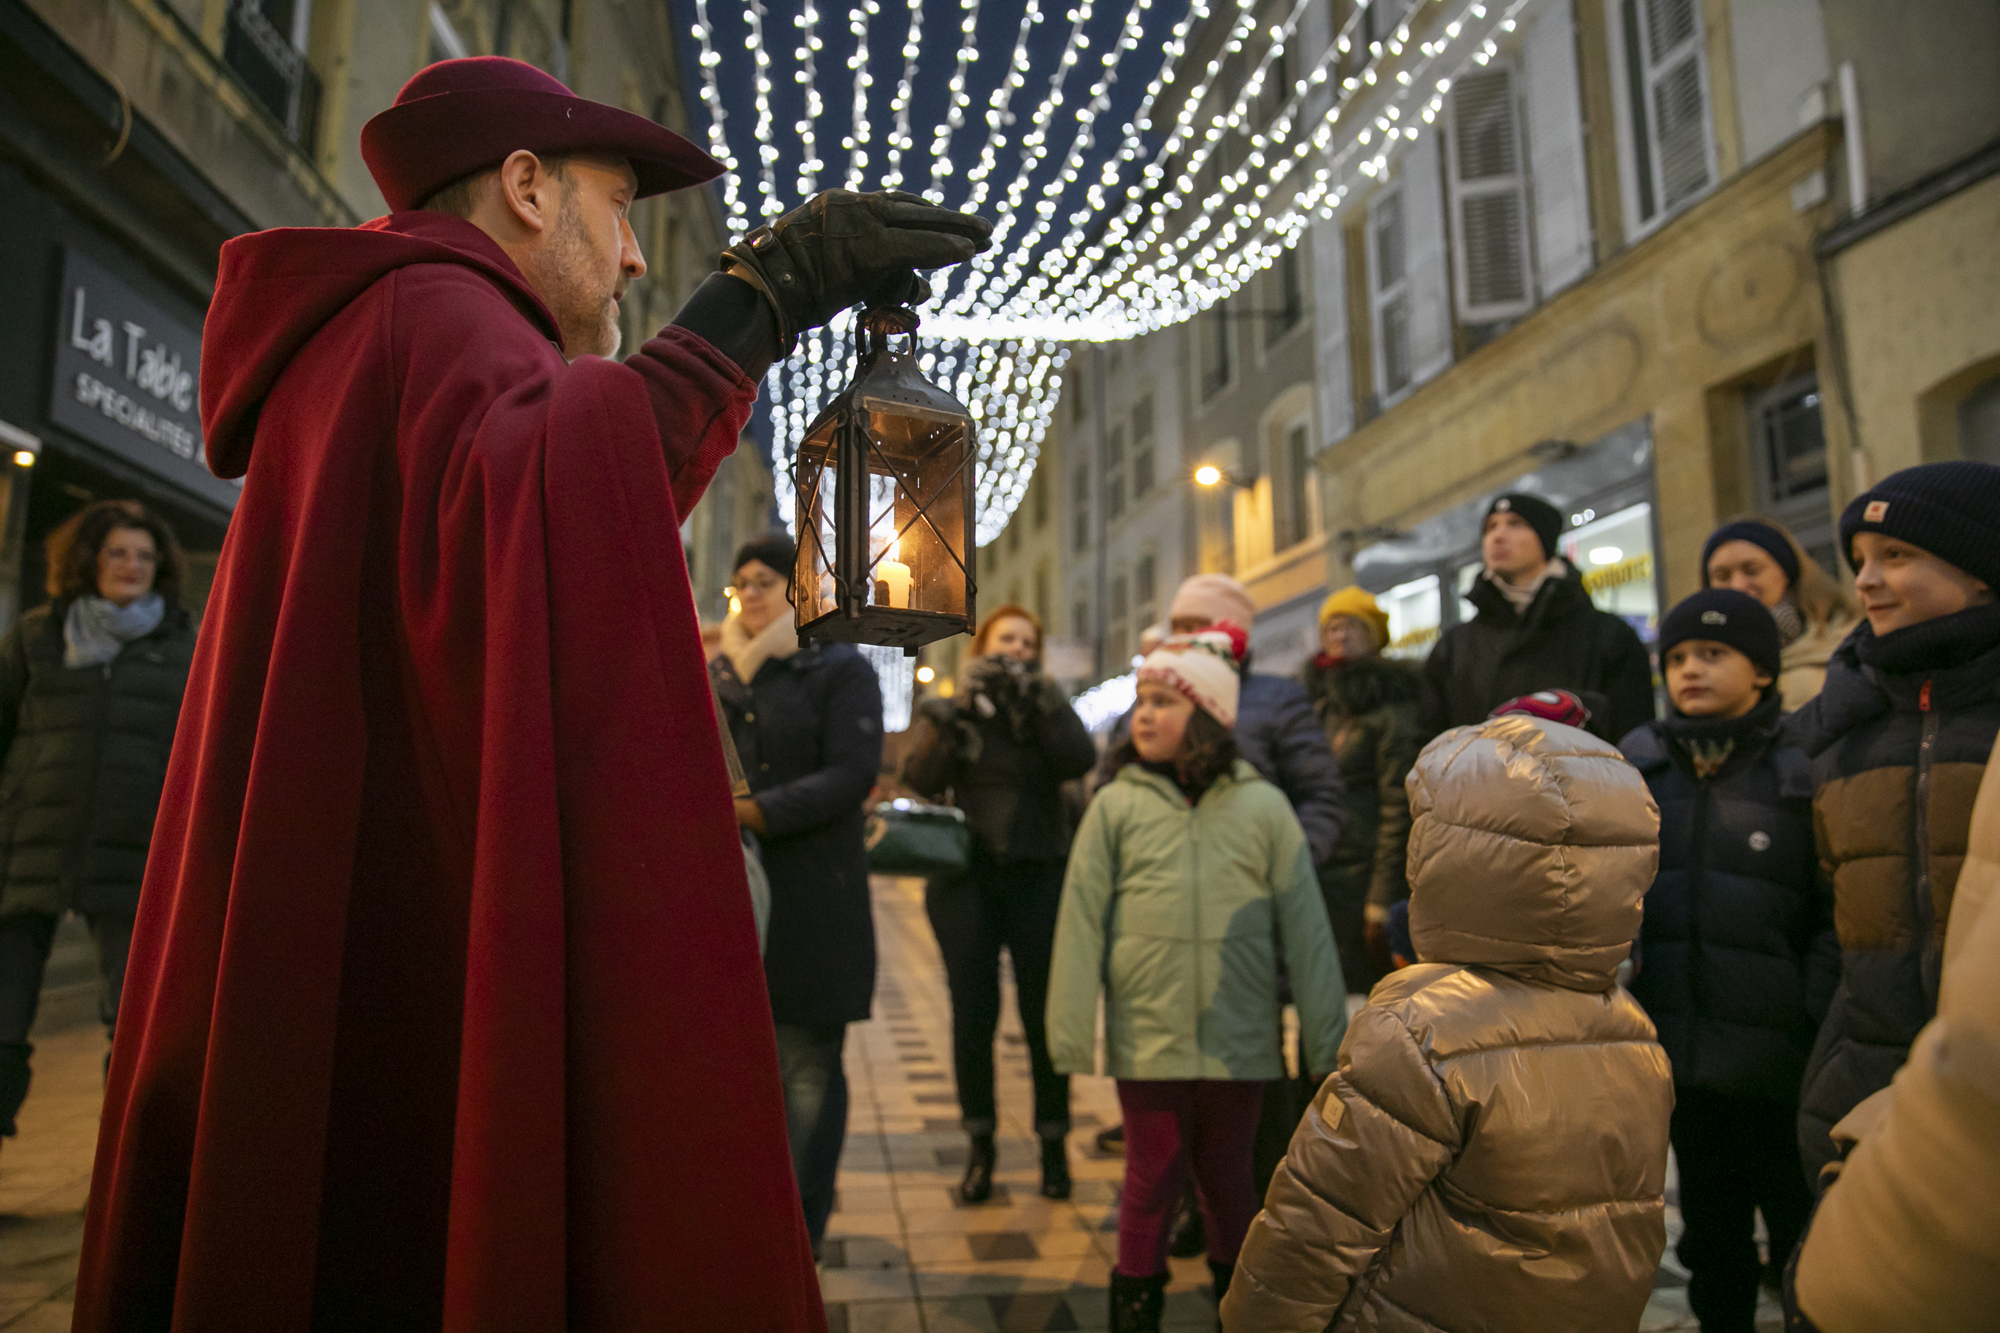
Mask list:
[[514,260],[464,218],[396,212],[354,228],[280,226],[236,236],[222,246],[202,324],[202,440],[216,476],[250,468],[258,412],[298,350],[376,280],[408,264],[472,268],[562,344],[554,316]]

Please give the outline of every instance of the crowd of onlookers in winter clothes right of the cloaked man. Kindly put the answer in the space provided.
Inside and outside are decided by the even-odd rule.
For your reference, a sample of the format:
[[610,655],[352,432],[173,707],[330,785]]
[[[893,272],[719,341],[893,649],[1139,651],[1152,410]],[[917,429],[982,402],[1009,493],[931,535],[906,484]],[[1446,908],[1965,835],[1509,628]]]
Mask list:
[[[918,703],[894,777],[972,833],[966,871],[926,887],[960,1195],[992,1193],[1006,951],[1044,1195],[1070,1193],[1068,1075],[1118,1081],[1112,1329],[1158,1327],[1190,1249],[1228,1329],[1630,1329],[1668,1145],[1710,1333],[1750,1329],[1788,1261],[1800,1329],[2000,1307],[1980,1305],[2000,1301],[1992,969],[1946,965],[2000,875],[2000,785],[1974,815],[2000,731],[2000,468],[1858,496],[1852,590],[1776,522],[1724,524],[1650,650],[1560,530],[1540,496],[1494,498],[1470,614],[1422,662],[1342,588],[1300,679],[1258,673],[1250,594],[1198,574],[1102,745],[1022,606]],[[818,1239],[842,1025],[872,987],[882,729],[860,654],[798,644],[790,568],[782,538],[744,548],[712,671],[770,875]],[[1984,1197],[1948,1203],[1954,1173]]]

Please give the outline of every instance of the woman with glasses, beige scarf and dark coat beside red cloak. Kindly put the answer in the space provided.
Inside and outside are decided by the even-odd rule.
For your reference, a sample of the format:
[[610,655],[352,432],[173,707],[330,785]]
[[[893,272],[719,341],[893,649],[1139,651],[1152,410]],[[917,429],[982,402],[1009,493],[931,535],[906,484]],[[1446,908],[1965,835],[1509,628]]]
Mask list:
[[852,644],[800,646],[790,576],[784,536],[736,552],[738,608],[708,671],[750,781],[736,821],[758,837],[770,879],[764,979],[792,1173],[818,1251],[848,1133],[840,1051],[874,997],[862,805],[882,767],[882,687]]

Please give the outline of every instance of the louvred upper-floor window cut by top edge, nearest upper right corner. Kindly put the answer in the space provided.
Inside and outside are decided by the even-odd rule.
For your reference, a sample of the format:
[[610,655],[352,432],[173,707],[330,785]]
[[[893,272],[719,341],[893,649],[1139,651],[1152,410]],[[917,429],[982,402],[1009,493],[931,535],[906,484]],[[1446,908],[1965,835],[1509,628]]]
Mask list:
[[1698,0],[1610,0],[1630,142],[1636,230],[1696,198],[1716,178]]

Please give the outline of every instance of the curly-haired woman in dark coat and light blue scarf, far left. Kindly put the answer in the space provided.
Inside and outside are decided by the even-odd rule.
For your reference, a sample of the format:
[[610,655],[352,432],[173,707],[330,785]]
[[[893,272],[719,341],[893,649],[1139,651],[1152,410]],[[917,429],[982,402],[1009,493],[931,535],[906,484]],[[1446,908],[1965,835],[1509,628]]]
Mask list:
[[64,913],[82,913],[118,1019],[132,917],[194,658],[172,528],[98,500],[48,538],[54,598],[0,640],[0,1135]]

